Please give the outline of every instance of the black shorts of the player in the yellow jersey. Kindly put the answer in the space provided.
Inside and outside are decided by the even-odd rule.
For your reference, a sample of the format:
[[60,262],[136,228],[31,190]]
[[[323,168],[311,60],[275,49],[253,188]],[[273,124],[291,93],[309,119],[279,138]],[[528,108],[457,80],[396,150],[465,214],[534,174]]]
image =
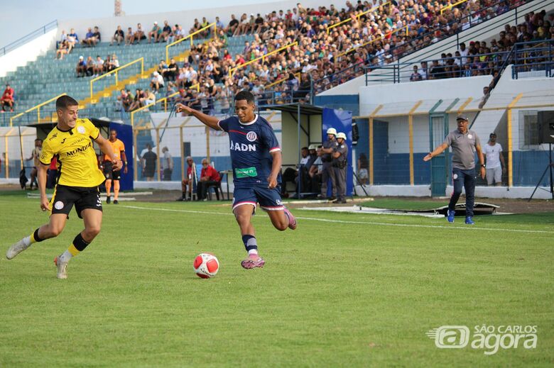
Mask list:
[[69,217],[74,204],[79,218],[82,218],[81,211],[86,208],[102,211],[98,186],[84,188],[82,186],[56,185],[54,196],[50,200],[51,213],[65,213]]

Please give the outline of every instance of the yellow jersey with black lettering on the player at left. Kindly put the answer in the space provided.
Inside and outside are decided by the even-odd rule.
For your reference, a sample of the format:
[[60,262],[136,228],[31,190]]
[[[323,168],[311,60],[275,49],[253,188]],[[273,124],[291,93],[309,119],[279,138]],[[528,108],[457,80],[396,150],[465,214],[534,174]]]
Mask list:
[[55,126],[43,141],[40,163],[50,165],[54,156],[58,158],[58,184],[87,188],[102,184],[106,178],[92,147],[92,140],[99,135],[100,130],[89,119],[77,119],[75,128],[66,131]]

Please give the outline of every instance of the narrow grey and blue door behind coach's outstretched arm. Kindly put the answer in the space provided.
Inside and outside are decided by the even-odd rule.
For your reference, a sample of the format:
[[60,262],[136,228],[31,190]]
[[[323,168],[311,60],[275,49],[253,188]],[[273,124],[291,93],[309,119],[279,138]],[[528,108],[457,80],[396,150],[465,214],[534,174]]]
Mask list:
[[[429,117],[430,152],[445,140],[448,134],[448,115],[433,114]],[[448,179],[448,150],[431,159],[431,196],[445,196]]]

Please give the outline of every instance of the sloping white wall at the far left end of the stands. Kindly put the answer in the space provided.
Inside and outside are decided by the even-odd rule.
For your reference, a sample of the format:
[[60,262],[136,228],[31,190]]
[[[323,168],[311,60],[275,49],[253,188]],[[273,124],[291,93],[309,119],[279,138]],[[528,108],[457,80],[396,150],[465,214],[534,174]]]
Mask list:
[[5,77],[7,72],[13,72],[17,67],[23,67],[28,62],[35,61],[40,55],[55,47],[57,29],[49,30],[34,40],[11,50],[0,57],[0,77]]

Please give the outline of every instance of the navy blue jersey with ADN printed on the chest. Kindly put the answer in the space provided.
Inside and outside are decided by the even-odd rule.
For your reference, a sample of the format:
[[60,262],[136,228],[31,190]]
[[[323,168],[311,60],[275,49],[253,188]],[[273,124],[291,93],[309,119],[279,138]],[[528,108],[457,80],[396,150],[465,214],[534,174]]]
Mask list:
[[[218,125],[229,133],[235,186],[267,185],[273,165],[270,152],[280,151],[281,147],[266,119],[256,115],[251,123],[241,123],[237,116],[232,116],[219,121]],[[281,184],[281,175],[278,175],[277,182]]]

